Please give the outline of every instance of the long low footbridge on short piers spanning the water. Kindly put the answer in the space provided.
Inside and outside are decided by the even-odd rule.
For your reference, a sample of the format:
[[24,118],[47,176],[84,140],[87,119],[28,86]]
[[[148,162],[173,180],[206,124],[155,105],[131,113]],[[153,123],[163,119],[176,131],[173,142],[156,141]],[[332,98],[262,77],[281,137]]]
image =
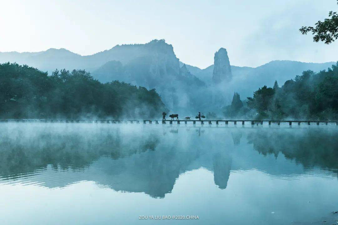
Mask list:
[[[116,119],[0,119],[0,122],[41,122],[41,123],[53,123],[53,122],[59,122],[59,123],[140,123],[140,121],[143,122],[143,124],[166,124],[169,122],[169,124],[177,123],[180,124],[181,122],[184,122],[185,124],[192,123],[196,124],[229,124],[229,122],[233,123],[234,125],[237,124],[237,122],[241,122],[242,125],[245,124],[245,122],[249,122],[251,125],[255,124],[269,124],[276,123],[277,125],[281,125],[281,123],[289,123],[291,126],[292,123],[297,123],[300,125],[301,123],[305,123],[308,125],[311,125],[311,123],[316,123],[317,125],[325,124],[328,125],[329,123],[335,123],[338,125],[338,121],[336,120],[138,120],[138,119],[123,119],[123,120],[116,120]],[[160,121],[160,122],[159,122]]]

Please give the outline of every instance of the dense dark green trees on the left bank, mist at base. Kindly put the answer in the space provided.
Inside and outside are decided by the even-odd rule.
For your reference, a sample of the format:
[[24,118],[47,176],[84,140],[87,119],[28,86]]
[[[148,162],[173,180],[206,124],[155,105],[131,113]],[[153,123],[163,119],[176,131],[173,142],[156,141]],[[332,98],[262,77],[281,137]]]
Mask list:
[[155,89],[103,84],[84,70],[48,76],[28,65],[0,64],[0,118],[153,118],[164,110]]

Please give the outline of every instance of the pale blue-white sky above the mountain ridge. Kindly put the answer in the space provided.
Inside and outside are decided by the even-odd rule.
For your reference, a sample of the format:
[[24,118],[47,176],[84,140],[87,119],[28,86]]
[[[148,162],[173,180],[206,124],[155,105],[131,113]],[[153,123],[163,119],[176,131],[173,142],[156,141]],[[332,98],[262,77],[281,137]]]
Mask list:
[[[142,3],[141,3],[142,2]],[[91,55],[115,45],[165,39],[187,64],[205,68],[226,48],[230,63],[338,60],[338,40],[301,35],[338,11],[336,0],[0,0],[0,52],[65,48]]]

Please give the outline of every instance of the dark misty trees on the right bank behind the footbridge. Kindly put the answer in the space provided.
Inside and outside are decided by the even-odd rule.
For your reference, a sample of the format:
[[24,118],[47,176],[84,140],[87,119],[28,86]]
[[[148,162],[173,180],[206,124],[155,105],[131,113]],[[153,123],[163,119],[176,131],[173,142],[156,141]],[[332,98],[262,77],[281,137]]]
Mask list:
[[304,71],[282,87],[277,81],[273,87],[265,85],[245,101],[235,92],[232,104],[223,107],[223,115],[258,120],[337,120],[338,62],[327,71]]

